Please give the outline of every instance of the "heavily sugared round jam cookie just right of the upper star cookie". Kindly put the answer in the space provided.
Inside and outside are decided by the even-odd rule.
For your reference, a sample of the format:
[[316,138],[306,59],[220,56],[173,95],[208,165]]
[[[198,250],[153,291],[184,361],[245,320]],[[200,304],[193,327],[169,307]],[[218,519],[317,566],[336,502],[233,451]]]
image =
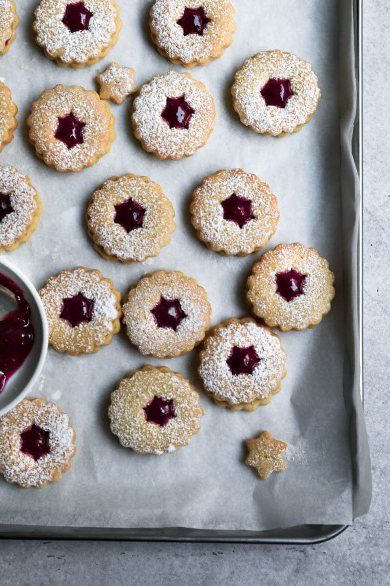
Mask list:
[[152,77],[133,103],[134,134],[158,159],[193,155],[205,145],[214,122],[213,98],[189,73]]

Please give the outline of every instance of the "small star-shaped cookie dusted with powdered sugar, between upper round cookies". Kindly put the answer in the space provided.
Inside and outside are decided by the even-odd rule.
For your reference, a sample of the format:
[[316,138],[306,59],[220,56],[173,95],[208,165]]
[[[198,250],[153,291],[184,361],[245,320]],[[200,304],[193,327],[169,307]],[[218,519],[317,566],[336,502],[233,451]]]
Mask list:
[[126,96],[135,94],[138,89],[134,83],[134,69],[120,67],[115,61],[96,76],[96,81],[100,86],[99,96],[103,100],[113,100],[116,104],[122,104]]

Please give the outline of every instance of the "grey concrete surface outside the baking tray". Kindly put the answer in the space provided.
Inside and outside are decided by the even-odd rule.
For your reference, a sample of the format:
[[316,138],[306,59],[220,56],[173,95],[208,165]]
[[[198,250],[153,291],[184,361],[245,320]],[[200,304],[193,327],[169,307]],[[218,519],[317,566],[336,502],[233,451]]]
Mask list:
[[[389,0],[364,0],[364,389],[370,513],[316,546],[0,542],[0,585],[390,584]],[[0,505],[1,506],[1,505]]]

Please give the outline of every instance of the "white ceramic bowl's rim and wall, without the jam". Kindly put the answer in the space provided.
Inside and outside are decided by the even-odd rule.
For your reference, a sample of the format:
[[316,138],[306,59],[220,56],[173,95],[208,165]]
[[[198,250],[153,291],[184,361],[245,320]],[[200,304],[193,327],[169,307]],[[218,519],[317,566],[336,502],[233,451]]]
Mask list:
[[47,353],[48,331],[46,314],[42,301],[32,282],[5,258],[0,258],[0,272],[11,278],[25,294],[25,298],[31,307],[31,315],[35,332],[34,344],[25,362],[8,379],[5,389],[0,393],[0,415],[10,411],[20,403],[30,391],[39,377]]

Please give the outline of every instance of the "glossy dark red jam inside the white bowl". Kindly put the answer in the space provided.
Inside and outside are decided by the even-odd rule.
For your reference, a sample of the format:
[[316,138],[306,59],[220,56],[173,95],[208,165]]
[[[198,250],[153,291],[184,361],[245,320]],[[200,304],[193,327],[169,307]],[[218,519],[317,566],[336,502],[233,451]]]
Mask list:
[[[6,381],[25,362],[34,343],[31,308],[22,289],[0,272],[0,285],[12,291],[18,307],[0,321],[0,393]],[[5,294],[4,294],[5,295]]]

